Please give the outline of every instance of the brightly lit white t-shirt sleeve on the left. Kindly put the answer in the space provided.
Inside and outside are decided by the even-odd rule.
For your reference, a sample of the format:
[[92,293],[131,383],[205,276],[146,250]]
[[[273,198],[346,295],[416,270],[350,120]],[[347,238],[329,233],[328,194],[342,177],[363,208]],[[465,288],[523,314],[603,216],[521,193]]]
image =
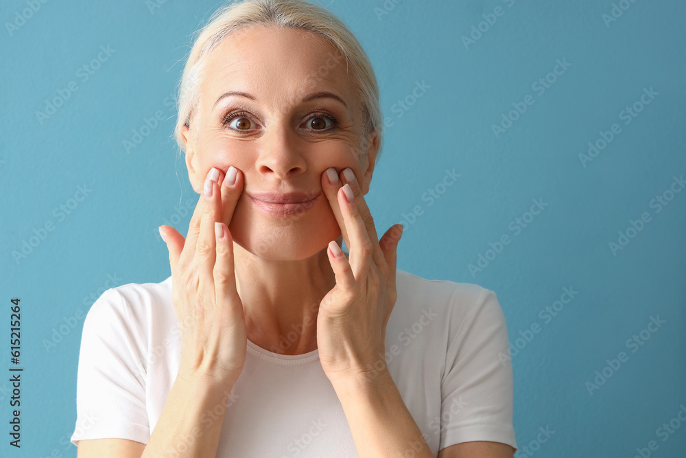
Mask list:
[[106,290],[84,319],[71,442],[121,438],[147,444],[143,339],[121,293]]

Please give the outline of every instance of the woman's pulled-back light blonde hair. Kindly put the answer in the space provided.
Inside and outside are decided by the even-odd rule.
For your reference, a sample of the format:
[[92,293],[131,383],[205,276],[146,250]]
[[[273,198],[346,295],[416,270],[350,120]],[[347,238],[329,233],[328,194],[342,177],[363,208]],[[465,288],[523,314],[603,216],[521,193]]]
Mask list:
[[[208,23],[196,32],[198,37],[191,47],[178,84],[178,119],[174,139],[180,150],[185,152],[181,135],[183,126],[189,126],[193,135],[198,133],[197,123],[191,126],[191,117],[200,103],[200,81],[207,56],[230,32],[260,24],[306,30],[323,37],[340,52],[336,56],[336,62],[341,57],[346,59],[346,69],[353,79],[355,93],[362,106],[361,154],[366,152],[368,135],[372,130],[376,130],[379,135],[378,160],[381,153],[383,118],[379,104],[379,87],[371,62],[357,38],[340,19],[324,8],[303,0],[232,1],[215,11]],[[329,71],[327,63],[326,67],[320,68],[318,75],[311,76],[310,82],[316,82]]]

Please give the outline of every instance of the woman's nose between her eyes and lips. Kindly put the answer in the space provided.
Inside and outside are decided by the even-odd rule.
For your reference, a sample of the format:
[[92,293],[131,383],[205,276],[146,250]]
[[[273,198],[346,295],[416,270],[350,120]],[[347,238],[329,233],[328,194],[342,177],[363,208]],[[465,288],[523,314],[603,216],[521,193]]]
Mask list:
[[276,179],[292,178],[307,170],[297,136],[287,126],[272,124],[262,136],[257,170]]

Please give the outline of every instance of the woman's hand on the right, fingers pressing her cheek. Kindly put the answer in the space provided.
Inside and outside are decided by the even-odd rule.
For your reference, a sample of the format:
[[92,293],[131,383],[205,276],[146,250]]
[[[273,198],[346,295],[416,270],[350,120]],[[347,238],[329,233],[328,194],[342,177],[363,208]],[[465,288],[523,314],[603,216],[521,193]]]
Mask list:
[[350,168],[340,175],[334,168],[324,172],[322,189],[341,227],[349,259],[335,241],[329,244],[327,253],[336,285],[319,307],[320,361],[332,384],[360,377],[372,381],[387,371],[384,341],[397,299],[397,247],[403,226],[391,226],[379,240]]

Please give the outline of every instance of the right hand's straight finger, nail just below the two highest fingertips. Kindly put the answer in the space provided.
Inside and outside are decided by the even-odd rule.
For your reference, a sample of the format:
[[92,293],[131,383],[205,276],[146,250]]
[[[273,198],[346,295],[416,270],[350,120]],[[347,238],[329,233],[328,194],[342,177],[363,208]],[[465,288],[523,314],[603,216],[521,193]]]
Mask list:
[[[344,225],[349,237],[350,244],[346,240],[350,251],[348,261],[353,269],[353,275],[355,275],[356,279],[359,279],[366,274],[367,268],[372,261],[374,247],[371,240],[369,240],[369,234],[364,226],[364,221],[362,221],[362,216],[359,214],[357,205],[355,205],[355,196],[348,183],[343,185],[340,191],[338,191],[338,203],[341,207]],[[385,265],[385,262],[383,265]]]

